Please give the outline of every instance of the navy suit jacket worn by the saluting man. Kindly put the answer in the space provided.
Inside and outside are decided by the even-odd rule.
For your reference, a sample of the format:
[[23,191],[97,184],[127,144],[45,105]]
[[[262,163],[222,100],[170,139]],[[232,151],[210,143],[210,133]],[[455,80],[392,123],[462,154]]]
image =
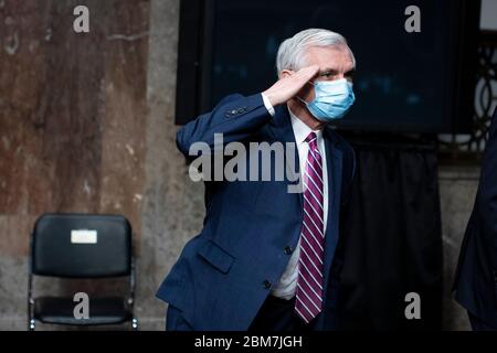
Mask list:
[[[261,94],[228,96],[212,111],[178,131],[178,148],[187,157],[193,142],[213,148],[214,132],[223,133],[224,143],[295,143],[286,106],[275,110],[272,117]],[[329,128],[324,138],[330,190],[324,260],[327,290],[325,309],[316,319],[317,330],[329,327],[327,313],[337,299],[334,290],[340,260],[335,255],[340,208],[347,203],[356,165],[353,150],[342,138]],[[296,148],[295,154],[298,171]],[[303,195],[288,193],[289,183],[286,179],[205,182],[203,229],[188,242],[157,291],[159,299],[181,311],[192,330],[250,327],[278,282],[300,235]]]

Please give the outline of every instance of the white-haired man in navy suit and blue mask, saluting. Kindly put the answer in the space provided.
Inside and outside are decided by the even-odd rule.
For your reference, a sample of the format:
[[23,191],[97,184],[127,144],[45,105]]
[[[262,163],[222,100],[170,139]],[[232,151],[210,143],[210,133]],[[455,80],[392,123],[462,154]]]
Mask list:
[[[214,154],[214,133],[226,148],[293,146],[302,192],[288,192],[295,186],[289,178],[205,182],[204,227],[157,292],[169,303],[168,330],[337,328],[340,214],[356,164],[353,150],[328,122],[355,100],[356,62],[340,34],[311,29],[282,43],[276,66],[279,79],[272,87],[225,97],[181,128],[177,145],[188,159],[198,146],[207,147],[202,157]],[[285,153],[278,164],[276,154],[254,173],[248,163],[246,174],[286,169],[290,158]]]

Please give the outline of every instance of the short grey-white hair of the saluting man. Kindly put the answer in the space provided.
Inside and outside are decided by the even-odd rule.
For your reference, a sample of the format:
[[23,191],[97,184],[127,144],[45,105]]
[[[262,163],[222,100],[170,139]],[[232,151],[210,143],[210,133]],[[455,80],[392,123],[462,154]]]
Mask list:
[[278,75],[285,68],[298,71],[304,67],[306,65],[304,62],[305,50],[310,46],[345,46],[350,53],[353,67],[356,67],[356,57],[341,34],[321,29],[308,29],[286,39],[279,45],[276,56]]

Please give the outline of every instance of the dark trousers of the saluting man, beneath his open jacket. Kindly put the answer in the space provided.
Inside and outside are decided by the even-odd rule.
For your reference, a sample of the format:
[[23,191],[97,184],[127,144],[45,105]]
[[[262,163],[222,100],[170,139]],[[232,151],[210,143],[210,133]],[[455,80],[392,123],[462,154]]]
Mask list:
[[267,296],[248,331],[311,331],[314,321],[305,323],[295,312],[295,297],[290,300]]

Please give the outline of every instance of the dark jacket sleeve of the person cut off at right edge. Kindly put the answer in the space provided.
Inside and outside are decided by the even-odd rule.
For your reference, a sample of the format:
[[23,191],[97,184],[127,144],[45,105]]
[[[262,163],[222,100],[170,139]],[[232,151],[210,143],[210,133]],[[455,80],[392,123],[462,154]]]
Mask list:
[[497,277],[497,109],[490,126],[476,199],[478,220],[485,243],[491,249],[493,270]]

